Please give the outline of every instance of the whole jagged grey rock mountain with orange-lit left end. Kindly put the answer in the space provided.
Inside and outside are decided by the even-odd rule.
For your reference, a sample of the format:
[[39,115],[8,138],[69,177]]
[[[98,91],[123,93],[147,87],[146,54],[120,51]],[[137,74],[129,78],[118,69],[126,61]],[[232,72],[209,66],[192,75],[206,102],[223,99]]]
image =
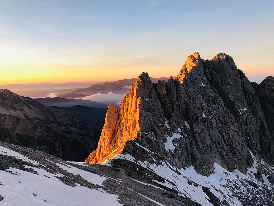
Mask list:
[[[273,164],[273,82],[251,84],[222,53],[204,61],[195,52],[176,78],[157,84],[142,73],[120,108],[109,106],[98,148],[86,162],[128,153],[177,168],[193,165],[203,175],[214,172],[215,162],[245,173],[253,164],[251,150]],[[171,138],[175,132],[179,137]],[[170,139],[174,148],[165,146]],[[153,151],[153,158],[135,143]]]

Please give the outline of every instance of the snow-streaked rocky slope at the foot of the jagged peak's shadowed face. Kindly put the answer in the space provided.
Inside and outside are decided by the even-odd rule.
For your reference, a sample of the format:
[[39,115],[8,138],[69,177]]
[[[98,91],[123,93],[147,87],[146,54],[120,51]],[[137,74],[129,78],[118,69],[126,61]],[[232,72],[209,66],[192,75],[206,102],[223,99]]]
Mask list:
[[[144,149],[149,151],[147,148]],[[251,155],[254,165],[247,169],[247,175],[238,170],[229,172],[215,163],[214,174],[207,177],[195,172],[193,166],[178,170],[166,161],[151,164],[136,160],[130,154],[118,154],[105,164],[111,165],[115,164],[115,161],[122,160],[132,162],[132,167],[140,165],[140,168],[146,168],[164,179],[164,181],[153,179],[153,182],[173,189],[179,195],[189,197],[201,205],[273,205],[274,167],[256,159],[252,153]],[[134,170],[132,167],[131,170]],[[261,178],[258,170],[264,173]]]

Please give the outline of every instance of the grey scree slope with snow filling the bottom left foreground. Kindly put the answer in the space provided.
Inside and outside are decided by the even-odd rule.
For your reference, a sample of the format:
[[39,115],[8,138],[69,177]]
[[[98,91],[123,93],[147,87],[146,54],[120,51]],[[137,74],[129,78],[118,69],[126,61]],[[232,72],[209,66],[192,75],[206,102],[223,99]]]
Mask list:
[[66,162],[1,141],[0,157],[0,204],[200,205],[173,189],[123,169]]

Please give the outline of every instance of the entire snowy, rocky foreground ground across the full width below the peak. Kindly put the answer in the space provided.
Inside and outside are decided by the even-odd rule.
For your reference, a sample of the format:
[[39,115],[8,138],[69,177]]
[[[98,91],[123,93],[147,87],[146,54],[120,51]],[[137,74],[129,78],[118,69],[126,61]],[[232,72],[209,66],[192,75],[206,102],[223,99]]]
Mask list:
[[[179,170],[166,161],[152,164],[130,154],[118,154],[99,165],[65,162],[26,147],[0,145],[0,195],[4,198],[0,204],[4,205],[271,206],[274,202],[274,168],[252,153],[254,165],[247,175],[215,164],[215,173],[206,177],[193,166]],[[152,151],[135,145],[153,158]]]

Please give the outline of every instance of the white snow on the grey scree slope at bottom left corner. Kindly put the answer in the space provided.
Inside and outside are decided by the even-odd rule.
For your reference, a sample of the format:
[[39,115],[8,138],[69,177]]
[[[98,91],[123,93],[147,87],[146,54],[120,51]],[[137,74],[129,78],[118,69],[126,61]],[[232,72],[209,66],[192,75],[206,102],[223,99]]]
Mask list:
[[[23,161],[40,166],[37,168],[25,165],[25,168],[32,168],[32,172],[12,167],[0,170],[2,184],[0,195],[4,198],[1,201],[4,205],[121,205],[118,203],[117,195],[106,193],[100,187],[90,189],[78,183],[69,186],[55,177],[65,177],[65,175],[47,172],[45,166],[17,152],[0,146],[0,154],[21,158]],[[107,179],[68,164],[51,163],[72,174],[81,175],[86,181],[95,185],[100,186]]]

